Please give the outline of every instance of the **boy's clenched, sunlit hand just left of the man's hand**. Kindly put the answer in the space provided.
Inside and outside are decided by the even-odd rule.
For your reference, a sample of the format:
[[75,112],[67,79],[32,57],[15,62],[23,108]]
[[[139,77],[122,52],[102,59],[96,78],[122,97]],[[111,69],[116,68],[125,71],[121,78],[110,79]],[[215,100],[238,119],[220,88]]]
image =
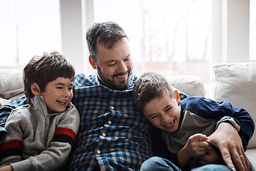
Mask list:
[[208,140],[207,136],[200,133],[189,137],[187,144],[184,146],[184,150],[187,152],[187,155],[191,158],[205,155],[206,148],[209,147],[209,143],[205,142],[206,140]]

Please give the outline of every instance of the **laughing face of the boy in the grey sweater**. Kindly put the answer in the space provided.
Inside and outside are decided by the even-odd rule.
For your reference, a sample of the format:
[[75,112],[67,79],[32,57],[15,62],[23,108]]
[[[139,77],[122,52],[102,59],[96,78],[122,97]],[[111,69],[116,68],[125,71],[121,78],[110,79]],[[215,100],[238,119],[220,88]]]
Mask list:
[[48,113],[63,112],[73,98],[73,81],[69,78],[58,77],[56,80],[47,83],[44,93],[44,100]]

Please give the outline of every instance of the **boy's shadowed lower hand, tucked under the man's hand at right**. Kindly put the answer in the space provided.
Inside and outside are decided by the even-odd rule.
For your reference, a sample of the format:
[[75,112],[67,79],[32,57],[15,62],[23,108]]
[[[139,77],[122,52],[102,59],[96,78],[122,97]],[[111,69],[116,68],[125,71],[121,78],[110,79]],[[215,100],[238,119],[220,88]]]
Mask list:
[[208,147],[205,155],[200,157],[200,165],[220,164],[221,162],[223,162],[222,157],[212,147]]

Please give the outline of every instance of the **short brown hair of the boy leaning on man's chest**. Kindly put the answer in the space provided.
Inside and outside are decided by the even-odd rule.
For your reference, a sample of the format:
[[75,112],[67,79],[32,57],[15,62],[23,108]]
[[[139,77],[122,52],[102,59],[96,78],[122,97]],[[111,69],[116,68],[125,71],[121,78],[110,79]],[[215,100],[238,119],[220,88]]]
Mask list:
[[175,98],[174,92],[167,79],[159,73],[147,72],[138,78],[133,87],[134,102],[139,110],[150,100],[168,93],[171,98]]

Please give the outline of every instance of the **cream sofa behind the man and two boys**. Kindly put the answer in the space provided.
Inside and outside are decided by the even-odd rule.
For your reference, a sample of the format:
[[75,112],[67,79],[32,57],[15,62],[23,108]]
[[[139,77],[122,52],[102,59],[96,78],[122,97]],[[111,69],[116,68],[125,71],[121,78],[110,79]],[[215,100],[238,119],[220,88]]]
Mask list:
[[[217,64],[211,71],[211,95],[213,100],[228,101],[245,108],[256,120],[256,63]],[[21,97],[23,93],[22,71],[0,68],[0,106]],[[174,76],[168,78],[174,88],[187,95],[206,96],[205,85],[198,76]],[[252,136],[246,151],[256,168],[256,135]]]

